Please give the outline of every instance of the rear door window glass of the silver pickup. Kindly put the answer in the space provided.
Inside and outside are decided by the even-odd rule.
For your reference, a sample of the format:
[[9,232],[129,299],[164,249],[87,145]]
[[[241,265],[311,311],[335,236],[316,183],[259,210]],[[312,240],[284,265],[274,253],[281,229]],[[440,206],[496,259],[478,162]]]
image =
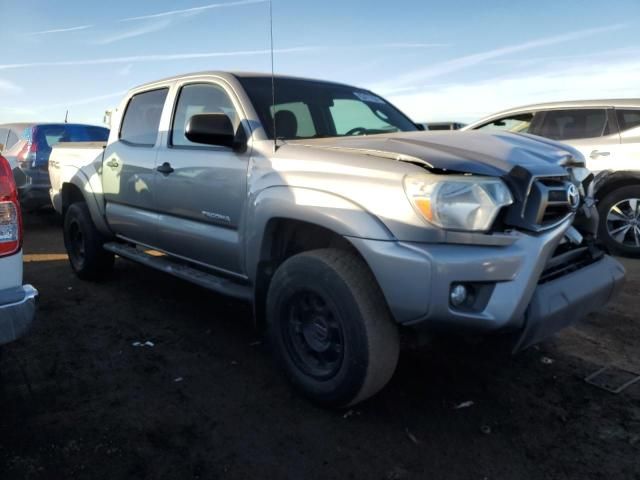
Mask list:
[[132,145],[155,145],[168,91],[168,88],[161,88],[131,97],[122,119],[120,140]]

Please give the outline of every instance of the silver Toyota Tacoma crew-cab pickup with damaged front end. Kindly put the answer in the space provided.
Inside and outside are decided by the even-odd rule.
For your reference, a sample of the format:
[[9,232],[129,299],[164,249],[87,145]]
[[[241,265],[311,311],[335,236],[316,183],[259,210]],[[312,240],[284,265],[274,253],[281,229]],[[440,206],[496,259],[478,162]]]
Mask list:
[[423,132],[361,88],[274,84],[143,85],[92,158],[54,148],[73,270],[103,277],[118,255],[251,301],[289,379],[329,406],[388,382],[400,331],[511,333],[519,351],[619,288],[571,147]]

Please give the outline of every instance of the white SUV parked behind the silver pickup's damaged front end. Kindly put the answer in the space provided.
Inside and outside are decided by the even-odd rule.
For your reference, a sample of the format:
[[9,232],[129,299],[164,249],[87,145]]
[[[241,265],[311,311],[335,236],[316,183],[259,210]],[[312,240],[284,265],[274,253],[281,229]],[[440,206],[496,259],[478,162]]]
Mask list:
[[640,256],[640,100],[530,105],[491,115],[465,130],[530,133],[580,150],[597,173],[600,238],[616,253]]

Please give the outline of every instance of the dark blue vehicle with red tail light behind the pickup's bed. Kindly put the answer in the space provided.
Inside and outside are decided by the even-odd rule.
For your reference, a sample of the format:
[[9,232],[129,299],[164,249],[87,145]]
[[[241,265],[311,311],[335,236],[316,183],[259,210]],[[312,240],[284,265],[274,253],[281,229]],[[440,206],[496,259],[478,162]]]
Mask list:
[[20,203],[26,210],[49,204],[49,155],[58,142],[105,141],[109,130],[104,127],[73,123],[29,125],[22,131],[5,156],[14,166]]

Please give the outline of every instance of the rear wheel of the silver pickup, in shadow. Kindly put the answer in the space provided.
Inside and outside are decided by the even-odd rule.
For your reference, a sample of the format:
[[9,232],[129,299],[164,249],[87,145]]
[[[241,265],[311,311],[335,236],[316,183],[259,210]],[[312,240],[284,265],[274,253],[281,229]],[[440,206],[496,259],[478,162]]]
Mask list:
[[84,202],[74,203],[64,216],[64,246],[72,270],[83,280],[100,280],[113,270],[114,255],[102,246],[105,238],[96,229]]

